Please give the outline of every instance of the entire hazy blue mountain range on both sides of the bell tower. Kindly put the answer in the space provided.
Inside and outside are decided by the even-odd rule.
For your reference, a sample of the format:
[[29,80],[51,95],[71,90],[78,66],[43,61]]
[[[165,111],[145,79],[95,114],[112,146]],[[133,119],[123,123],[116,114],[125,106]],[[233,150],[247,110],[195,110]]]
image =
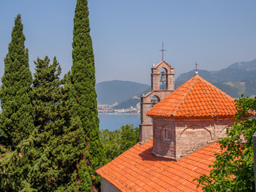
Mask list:
[[[198,74],[217,86],[233,98],[256,95],[256,59],[251,62],[235,62],[226,69],[208,71],[198,70]],[[194,70],[180,74],[175,80],[175,89],[194,76]],[[101,104],[119,104],[115,109],[136,106],[138,97],[150,91],[150,86],[138,82],[114,80],[96,84],[98,102]]]

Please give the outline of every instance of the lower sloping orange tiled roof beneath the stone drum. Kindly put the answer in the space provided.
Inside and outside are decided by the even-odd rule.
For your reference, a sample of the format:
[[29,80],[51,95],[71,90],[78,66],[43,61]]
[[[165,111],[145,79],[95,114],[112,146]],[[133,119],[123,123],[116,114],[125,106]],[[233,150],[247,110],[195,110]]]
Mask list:
[[152,154],[153,140],[136,144],[96,172],[121,191],[202,191],[193,181],[209,174],[218,142],[175,161],[158,161]]

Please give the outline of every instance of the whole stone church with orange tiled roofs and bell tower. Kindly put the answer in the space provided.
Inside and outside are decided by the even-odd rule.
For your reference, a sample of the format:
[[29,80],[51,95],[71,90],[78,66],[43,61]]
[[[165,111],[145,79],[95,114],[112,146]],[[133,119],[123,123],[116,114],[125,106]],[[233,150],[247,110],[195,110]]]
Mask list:
[[[102,191],[202,191],[218,139],[234,124],[234,98],[198,72],[174,90],[174,68],[151,68],[151,91],[141,98],[140,142],[96,172]],[[161,85],[162,84],[162,85]]]

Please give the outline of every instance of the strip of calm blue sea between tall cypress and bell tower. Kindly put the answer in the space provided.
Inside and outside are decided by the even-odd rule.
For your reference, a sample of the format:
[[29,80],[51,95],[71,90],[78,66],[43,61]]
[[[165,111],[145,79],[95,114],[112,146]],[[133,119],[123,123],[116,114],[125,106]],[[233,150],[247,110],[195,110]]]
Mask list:
[[138,127],[141,122],[140,114],[98,114],[99,130],[118,130],[127,124]]

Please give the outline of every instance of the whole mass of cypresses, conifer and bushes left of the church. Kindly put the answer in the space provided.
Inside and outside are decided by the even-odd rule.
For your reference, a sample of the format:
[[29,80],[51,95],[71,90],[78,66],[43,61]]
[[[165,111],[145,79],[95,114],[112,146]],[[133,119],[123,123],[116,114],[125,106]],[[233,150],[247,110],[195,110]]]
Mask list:
[[133,126],[100,138],[88,14],[87,1],[78,0],[73,66],[63,79],[48,57],[34,62],[32,79],[21,16],[15,18],[0,90],[1,191],[98,191],[95,170],[138,142]]

